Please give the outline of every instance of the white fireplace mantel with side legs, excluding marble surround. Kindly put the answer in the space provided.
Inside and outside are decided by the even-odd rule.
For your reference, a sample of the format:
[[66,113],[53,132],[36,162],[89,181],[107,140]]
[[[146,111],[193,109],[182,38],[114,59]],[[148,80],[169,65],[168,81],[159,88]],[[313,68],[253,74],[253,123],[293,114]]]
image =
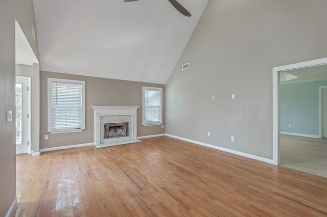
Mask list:
[[94,144],[100,147],[100,117],[131,115],[133,120],[132,138],[137,137],[137,108],[139,106],[91,106],[94,110]]

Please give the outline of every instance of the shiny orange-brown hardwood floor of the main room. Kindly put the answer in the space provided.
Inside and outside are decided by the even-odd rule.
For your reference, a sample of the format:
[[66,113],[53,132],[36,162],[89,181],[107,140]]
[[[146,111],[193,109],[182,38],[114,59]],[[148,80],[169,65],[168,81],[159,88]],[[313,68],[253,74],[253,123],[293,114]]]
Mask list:
[[169,137],[17,156],[13,216],[327,216],[327,179]]

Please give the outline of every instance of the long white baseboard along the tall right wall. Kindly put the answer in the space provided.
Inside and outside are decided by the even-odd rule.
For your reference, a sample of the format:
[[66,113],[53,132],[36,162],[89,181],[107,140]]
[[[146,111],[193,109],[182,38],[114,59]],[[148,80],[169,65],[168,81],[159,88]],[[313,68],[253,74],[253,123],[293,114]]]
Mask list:
[[229,152],[229,153],[232,153],[232,154],[237,154],[237,155],[240,155],[240,156],[243,156],[243,157],[248,157],[248,158],[252,158],[252,159],[255,159],[255,160],[260,160],[260,161],[263,161],[263,162],[267,162],[269,164],[273,164],[272,159],[268,159],[268,158],[264,158],[264,157],[260,157],[260,156],[255,156],[255,155],[252,155],[252,154],[247,154],[247,153],[243,153],[243,152],[240,152],[240,151],[235,151],[235,150],[231,150],[231,149],[227,149],[227,148],[222,148],[222,147],[219,147],[219,146],[214,146],[214,145],[210,145],[210,144],[206,144],[206,143],[202,143],[202,142],[198,142],[198,141],[194,141],[194,140],[189,140],[189,139],[185,139],[185,138],[182,138],[182,137],[177,137],[176,135],[171,135],[171,134],[167,134],[167,133],[166,133],[166,135],[168,137],[183,140],[183,141],[186,141],[186,142],[195,143],[195,144],[202,145],[202,146],[205,146],[205,147],[214,148],[214,149],[217,149],[217,150],[220,150],[220,151],[226,151],[226,152]]

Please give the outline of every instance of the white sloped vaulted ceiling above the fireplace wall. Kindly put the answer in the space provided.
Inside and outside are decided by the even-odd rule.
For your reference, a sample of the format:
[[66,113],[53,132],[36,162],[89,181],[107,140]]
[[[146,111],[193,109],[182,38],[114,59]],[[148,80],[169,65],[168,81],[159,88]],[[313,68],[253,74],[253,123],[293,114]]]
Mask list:
[[34,0],[42,71],[166,84],[208,0]]

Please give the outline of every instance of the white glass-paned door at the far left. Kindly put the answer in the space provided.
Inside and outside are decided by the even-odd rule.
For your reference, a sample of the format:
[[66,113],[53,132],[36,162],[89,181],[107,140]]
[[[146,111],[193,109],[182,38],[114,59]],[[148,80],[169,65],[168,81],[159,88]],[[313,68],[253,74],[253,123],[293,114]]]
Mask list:
[[16,78],[16,154],[28,153],[28,79]]

